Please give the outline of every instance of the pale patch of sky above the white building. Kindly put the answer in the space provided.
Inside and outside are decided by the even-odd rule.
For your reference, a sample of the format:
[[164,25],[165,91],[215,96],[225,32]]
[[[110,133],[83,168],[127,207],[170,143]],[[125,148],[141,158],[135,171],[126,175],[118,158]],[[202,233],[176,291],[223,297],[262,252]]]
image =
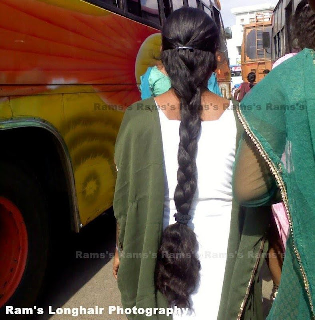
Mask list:
[[247,5],[255,5],[255,4],[263,4],[263,3],[273,3],[277,4],[278,0],[220,0],[222,10],[222,18],[224,22],[224,26],[232,26],[235,25],[235,16],[231,13],[232,8],[237,8],[239,6],[247,6]]

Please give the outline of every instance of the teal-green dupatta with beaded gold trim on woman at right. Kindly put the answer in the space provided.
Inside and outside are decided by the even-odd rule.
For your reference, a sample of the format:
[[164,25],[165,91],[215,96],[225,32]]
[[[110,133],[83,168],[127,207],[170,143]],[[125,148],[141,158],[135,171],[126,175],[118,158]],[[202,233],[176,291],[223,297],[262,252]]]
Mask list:
[[238,109],[281,191],[290,236],[268,319],[314,319],[315,54],[305,49],[272,70]]

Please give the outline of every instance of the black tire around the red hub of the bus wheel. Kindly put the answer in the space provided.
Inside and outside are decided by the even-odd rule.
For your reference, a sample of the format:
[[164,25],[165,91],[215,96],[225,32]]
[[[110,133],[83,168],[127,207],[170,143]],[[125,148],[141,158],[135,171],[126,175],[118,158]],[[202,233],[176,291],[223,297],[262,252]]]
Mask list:
[[[40,294],[47,268],[49,228],[44,195],[31,173],[18,165],[0,162],[0,196],[9,199],[19,208],[28,233],[25,271],[6,305],[33,307]],[[9,317],[5,315],[5,306],[2,307],[0,318]],[[20,315],[17,317],[21,318]]]

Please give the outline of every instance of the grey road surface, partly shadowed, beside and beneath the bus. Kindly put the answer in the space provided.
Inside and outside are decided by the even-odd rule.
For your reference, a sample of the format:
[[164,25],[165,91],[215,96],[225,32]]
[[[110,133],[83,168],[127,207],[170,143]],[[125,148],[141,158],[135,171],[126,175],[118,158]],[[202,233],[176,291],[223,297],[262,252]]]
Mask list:
[[[108,306],[120,306],[120,294],[112,276],[112,254],[115,250],[115,220],[111,214],[103,215],[67,240],[63,250],[56,252],[43,297],[37,307],[45,311],[31,320],[125,320],[115,312],[109,314]],[[98,255],[98,254],[99,255]],[[263,273],[264,307],[270,305],[271,279]],[[102,315],[48,314],[57,308],[104,308]],[[11,317],[15,318],[15,317]]]

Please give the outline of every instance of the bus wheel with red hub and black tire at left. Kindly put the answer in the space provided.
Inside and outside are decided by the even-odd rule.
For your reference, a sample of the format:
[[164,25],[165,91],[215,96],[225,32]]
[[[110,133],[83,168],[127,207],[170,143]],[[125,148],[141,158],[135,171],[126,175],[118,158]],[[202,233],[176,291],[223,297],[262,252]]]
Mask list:
[[0,307],[5,304],[33,306],[47,264],[48,224],[44,198],[34,177],[18,166],[2,162],[0,252]]

